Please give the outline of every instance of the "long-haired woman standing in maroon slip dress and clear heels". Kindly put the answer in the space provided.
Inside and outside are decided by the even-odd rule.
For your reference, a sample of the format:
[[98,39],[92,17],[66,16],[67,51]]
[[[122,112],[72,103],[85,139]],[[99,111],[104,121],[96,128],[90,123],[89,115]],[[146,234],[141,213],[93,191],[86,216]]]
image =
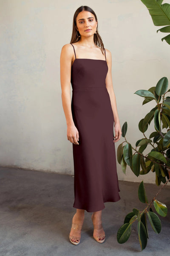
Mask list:
[[60,68],[67,139],[73,145],[73,207],[77,209],[69,239],[79,244],[86,210],[93,212],[93,237],[102,243],[104,202],[120,199],[114,143],[122,132],[112,84],[111,52],[104,48],[96,14],[88,6],[79,7],[74,14],[71,43],[62,47]]

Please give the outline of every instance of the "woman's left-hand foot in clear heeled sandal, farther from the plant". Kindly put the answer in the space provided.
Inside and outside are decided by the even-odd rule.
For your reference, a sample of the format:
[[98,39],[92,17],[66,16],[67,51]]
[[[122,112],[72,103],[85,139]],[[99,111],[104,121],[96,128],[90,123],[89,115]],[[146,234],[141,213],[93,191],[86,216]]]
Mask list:
[[81,230],[82,230],[82,224],[84,221],[84,214],[77,214],[77,212],[74,214],[71,224],[71,231],[69,234],[69,239],[72,244],[79,244],[80,238],[81,238]]

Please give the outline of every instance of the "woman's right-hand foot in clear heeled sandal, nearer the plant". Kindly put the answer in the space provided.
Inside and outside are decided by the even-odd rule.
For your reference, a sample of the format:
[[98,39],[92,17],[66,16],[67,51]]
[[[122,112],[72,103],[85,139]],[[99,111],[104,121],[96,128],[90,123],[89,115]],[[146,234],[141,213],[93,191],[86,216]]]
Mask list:
[[95,216],[94,213],[91,215],[91,219],[94,225],[93,237],[97,242],[103,243],[105,241],[105,231],[102,227],[102,220],[99,216]]

